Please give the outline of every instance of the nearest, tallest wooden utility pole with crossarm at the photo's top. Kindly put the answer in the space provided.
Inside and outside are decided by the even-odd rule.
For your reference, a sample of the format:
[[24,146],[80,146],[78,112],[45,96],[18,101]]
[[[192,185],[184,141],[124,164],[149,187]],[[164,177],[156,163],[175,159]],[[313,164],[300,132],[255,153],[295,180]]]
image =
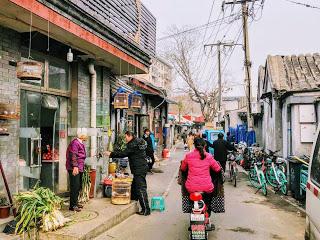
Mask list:
[[225,4],[241,4],[242,9],[242,28],[243,28],[243,48],[244,48],[244,71],[245,77],[244,82],[246,84],[246,98],[247,98],[247,121],[248,121],[248,130],[253,128],[253,121],[251,116],[251,61],[250,61],[250,51],[249,51],[249,33],[248,33],[248,2],[254,2],[256,0],[238,0],[223,2],[222,7]]

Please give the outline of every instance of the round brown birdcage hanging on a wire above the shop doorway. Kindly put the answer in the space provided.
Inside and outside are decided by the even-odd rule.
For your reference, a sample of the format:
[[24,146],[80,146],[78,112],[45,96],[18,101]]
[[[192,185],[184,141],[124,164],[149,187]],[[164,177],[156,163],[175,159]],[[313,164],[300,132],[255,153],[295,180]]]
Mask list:
[[21,80],[41,80],[42,79],[42,63],[36,61],[18,62],[17,78]]

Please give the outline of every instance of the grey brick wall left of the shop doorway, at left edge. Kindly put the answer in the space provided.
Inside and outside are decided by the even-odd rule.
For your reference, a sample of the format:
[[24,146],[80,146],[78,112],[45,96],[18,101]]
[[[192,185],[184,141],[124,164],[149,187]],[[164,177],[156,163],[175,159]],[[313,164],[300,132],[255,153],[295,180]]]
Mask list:
[[[0,26],[0,102],[14,105],[20,104],[19,79],[16,77],[16,67],[9,61],[20,60],[20,35],[10,29]],[[8,129],[10,136],[0,137],[0,160],[9,183],[11,192],[17,191],[17,166],[19,149],[19,121],[0,120],[0,126]],[[3,181],[0,189],[4,191]]]

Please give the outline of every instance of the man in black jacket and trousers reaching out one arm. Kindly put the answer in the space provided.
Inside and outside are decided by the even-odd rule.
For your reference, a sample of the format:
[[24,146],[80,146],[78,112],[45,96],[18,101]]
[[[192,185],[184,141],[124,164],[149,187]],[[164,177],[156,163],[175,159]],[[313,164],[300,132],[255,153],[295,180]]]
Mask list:
[[131,198],[138,200],[141,206],[139,215],[150,215],[150,206],[147,194],[146,175],[148,164],[146,159],[147,143],[141,138],[136,138],[130,131],[125,133],[127,148],[121,152],[106,152],[110,158],[129,158],[131,173],[133,174]]

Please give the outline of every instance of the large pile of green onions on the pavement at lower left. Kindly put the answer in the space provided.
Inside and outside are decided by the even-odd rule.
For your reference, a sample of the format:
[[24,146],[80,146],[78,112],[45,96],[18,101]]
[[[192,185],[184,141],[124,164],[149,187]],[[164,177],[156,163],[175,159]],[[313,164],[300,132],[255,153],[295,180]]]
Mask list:
[[44,232],[63,227],[68,221],[59,209],[63,200],[50,189],[36,187],[33,191],[15,196],[17,205],[16,234],[30,233],[31,229],[42,228]]

